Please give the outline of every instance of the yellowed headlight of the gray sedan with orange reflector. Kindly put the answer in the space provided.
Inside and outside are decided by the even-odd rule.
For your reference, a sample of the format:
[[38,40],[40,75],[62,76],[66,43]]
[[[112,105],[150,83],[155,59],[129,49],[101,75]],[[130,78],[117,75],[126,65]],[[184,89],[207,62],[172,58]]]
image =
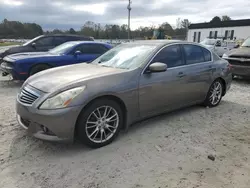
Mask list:
[[54,97],[46,99],[40,109],[58,109],[58,108],[65,108],[67,107],[71,101],[79,95],[85,87],[77,87],[62,93],[57,94]]

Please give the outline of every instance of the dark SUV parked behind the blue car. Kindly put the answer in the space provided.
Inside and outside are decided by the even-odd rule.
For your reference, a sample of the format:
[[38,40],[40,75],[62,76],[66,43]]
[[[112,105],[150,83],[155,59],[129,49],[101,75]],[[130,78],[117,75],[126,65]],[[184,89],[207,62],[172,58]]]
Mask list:
[[27,43],[14,46],[10,48],[6,48],[4,51],[0,51],[0,64],[2,59],[6,55],[20,53],[20,52],[42,52],[48,51],[62,43],[68,41],[93,41],[92,37],[80,36],[80,35],[41,35],[38,36]]

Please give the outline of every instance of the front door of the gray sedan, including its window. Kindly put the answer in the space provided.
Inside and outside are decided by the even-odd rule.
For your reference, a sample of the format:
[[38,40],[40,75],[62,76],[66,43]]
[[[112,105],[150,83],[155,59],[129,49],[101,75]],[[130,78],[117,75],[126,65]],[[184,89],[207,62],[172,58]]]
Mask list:
[[[139,106],[141,117],[179,108],[185,104],[185,63],[180,45],[163,48],[150,62],[166,63],[165,72],[151,73],[146,70],[139,81]],[[149,65],[148,65],[149,66]]]

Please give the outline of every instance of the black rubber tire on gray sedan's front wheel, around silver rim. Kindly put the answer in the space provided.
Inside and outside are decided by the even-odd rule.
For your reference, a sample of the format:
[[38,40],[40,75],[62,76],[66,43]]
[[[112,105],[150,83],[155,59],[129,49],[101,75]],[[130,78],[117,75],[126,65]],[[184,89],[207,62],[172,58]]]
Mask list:
[[[103,108],[105,108],[106,106],[111,107],[111,109],[113,108],[117,112],[119,120],[118,120],[118,122],[115,122],[116,126],[117,126],[116,130],[114,132],[110,132],[110,134],[113,134],[113,136],[110,137],[106,141],[103,141],[101,143],[97,143],[97,142],[90,139],[91,135],[89,135],[89,132],[91,132],[93,130],[92,131],[92,133],[93,133],[98,128],[97,128],[96,124],[93,124],[93,126],[96,126],[96,127],[93,127],[93,129],[92,129],[91,126],[89,126],[89,128],[90,128],[90,131],[89,131],[89,128],[87,129],[87,121],[88,121],[88,119],[90,119],[92,117],[91,114],[93,115],[93,112],[95,112],[95,110],[97,110],[98,108],[99,108],[99,111],[100,111],[99,115],[103,115],[105,113],[105,112],[103,112],[104,111]],[[77,124],[76,124],[76,135],[77,135],[77,138],[83,144],[85,144],[85,145],[87,145],[87,146],[89,146],[91,148],[100,148],[100,147],[103,147],[103,146],[106,146],[106,145],[110,144],[118,136],[118,134],[119,134],[119,132],[121,130],[121,127],[123,126],[123,123],[124,123],[123,112],[121,110],[120,105],[117,102],[115,102],[113,100],[110,100],[110,99],[97,99],[97,100],[93,101],[89,106],[87,106],[87,108],[85,108],[81,112],[81,114],[80,114],[80,116],[78,118]],[[101,126],[101,125],[98,125],[98,126]],[[100,129],[100,127],[99,127],[99,129]],[[105,132],[105,135],[106,135],[106,131],[107,131],[108,128],[104,127],[103,129],[104,129],[104,132]],[[100,135],[100,134],[103,134],[102,131],[98,130],[98,133],[95,133],[95,134],[97,134],[97,135],[95,135],[95,137],[99,136],[99,137],[102,138],[103,136]],[[108,133],[109,133],[109,131],[108,131]],[[95,138],[92,138],[92,139],[95,139]]]

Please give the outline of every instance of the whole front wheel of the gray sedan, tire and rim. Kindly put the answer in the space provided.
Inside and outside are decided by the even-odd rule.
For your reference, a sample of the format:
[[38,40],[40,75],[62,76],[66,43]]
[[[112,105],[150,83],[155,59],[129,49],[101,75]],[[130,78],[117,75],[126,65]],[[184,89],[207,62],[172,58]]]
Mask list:
[[98,99],[80,114],[76,131],[84,144],[99,148],[115,139],[122,124],[123,113],[119,104],[109,99]]

